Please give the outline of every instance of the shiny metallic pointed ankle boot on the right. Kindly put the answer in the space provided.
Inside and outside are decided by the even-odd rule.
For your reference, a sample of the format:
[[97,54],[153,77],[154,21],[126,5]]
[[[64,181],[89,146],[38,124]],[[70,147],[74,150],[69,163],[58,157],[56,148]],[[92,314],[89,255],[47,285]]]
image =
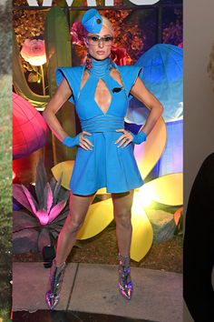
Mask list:
[[130,256],[122,256],[119,253],[119,290],[122,297],[131,299],[131,293],[133,291],[133,286],[131,282],[131,267],[130,267]]

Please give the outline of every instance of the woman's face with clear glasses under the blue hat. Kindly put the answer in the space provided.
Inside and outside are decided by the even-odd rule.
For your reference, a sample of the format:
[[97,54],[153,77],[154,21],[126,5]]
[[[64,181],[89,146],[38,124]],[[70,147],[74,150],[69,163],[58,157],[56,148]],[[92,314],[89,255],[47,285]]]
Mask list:
[[[99,40],[99,36],[103,38]],[[85,45],[88,48],[89,54],[97,60],[108,57],[111,54],[112,36],[111,30],[105,25],[102,25],[99,34],[88,33]]]

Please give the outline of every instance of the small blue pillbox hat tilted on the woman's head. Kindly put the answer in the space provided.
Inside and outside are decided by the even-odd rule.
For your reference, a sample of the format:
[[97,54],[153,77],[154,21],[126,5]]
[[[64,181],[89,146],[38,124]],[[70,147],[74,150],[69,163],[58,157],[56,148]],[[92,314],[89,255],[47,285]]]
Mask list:
[[102,16],[96,9],[89,9],[82,17],[82,25],[89,33],[100,33]]

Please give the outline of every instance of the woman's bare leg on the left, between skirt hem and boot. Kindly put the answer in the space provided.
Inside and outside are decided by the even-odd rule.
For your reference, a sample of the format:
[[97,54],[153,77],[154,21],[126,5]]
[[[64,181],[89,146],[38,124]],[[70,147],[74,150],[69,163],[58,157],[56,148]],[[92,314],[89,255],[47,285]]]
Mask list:
[[83,225],[84,218],[94,196],[95,193],[87,196],[73,195],[72,192],[70,193],[69,214],[65,220],[57,242],[55,257],[57,267],[62,265],[69,256],[76,241],[77,233]]

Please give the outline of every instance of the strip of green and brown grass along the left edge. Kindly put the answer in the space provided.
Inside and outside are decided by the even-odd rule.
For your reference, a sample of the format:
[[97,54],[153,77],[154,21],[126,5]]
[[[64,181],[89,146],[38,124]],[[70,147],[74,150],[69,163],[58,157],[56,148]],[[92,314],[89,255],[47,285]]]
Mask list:
[[[12,104],[11,76],[0,79],[0,317],[7,321],[11,300],[11,227],[12,227]],[[7,307],[7,308],[4,308]]]

